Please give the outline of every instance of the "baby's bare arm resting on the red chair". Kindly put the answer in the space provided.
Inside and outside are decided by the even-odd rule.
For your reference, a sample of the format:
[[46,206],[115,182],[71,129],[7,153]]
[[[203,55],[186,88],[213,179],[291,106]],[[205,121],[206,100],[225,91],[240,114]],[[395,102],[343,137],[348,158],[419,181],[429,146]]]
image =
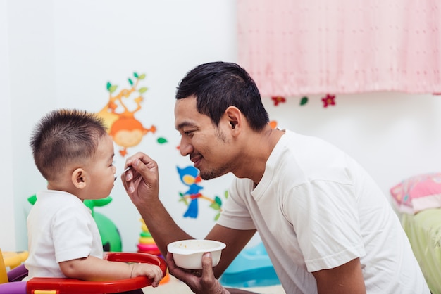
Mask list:
[[154,280],[151,286],[157,287],[159,281],[163,278],[161,268],[148,263],[127,264],[89,256],[59,262],[58,264],[63,274],[68,278],[85,281],[112,281],[130,279],[135,276],[147,276]]

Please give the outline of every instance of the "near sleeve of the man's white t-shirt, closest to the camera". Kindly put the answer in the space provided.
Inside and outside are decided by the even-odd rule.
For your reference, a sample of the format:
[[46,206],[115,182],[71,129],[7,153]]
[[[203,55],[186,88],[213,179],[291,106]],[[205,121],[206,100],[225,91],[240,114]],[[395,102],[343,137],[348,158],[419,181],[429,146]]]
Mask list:
[[338,267],[365,255],[353,186],[311,181],[285,196],[283,213],[294,226],[308,271]]

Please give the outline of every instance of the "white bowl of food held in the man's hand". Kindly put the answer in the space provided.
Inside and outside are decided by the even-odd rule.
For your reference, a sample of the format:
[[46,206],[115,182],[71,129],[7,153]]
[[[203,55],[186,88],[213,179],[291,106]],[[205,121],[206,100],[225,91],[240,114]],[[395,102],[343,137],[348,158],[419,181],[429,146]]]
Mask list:
[[225,244],[213,240],[181,240],[167,245],[169,253],[173,253],[173,260],[182,269],[202,269],[202,255],[210,252],[213,256],[213,267],[221,260],[221,251]]

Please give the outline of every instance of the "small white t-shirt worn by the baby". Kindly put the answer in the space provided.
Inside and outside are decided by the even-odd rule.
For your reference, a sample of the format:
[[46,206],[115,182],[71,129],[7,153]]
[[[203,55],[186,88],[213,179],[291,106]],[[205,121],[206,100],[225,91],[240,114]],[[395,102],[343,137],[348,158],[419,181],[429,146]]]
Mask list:
[[87,206],[76,196],[47,190],[27,216],[29,257],[25,267],[32,277],[64,278],[58,262],[92,255],[103,257],[97,224]]

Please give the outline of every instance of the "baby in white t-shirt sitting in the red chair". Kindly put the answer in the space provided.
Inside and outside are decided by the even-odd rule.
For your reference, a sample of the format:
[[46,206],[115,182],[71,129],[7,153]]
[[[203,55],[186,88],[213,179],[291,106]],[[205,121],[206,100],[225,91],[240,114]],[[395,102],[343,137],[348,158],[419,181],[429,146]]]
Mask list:
[[156,287],[162,271],[153,264],[103,260],[97,224],[85,199],[107,197],[115,179],[113,141],[103,122],[80,110],[54,110],[32,133],[35,165],[47,180],[47,190],[27,217],[32,277],[68,277],[109,281],[148,276]]

